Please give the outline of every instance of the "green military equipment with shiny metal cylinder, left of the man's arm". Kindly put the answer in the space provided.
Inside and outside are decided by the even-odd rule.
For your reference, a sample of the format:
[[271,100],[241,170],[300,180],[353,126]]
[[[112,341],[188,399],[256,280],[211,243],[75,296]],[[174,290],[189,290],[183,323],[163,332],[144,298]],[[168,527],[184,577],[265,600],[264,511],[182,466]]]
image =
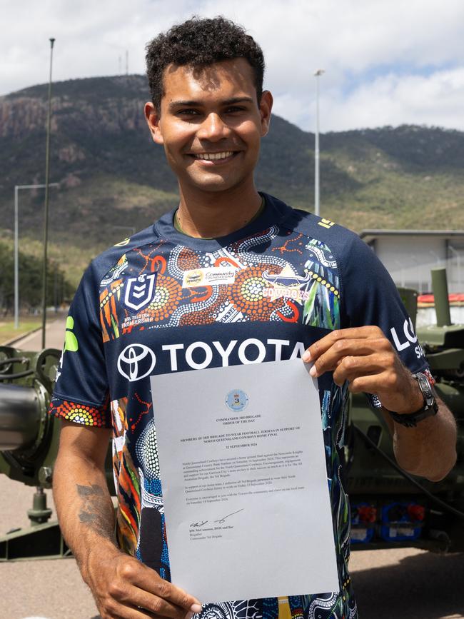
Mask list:
[[[0,346],[0,473],[36,487],[31,527],[0,536],[0,562],[71,555],[58,523],[49,521],[44,488],[51,488],[61,423],[47,414],[61,351],[41,353]],[[114,494],[111,443],[106,479]]]

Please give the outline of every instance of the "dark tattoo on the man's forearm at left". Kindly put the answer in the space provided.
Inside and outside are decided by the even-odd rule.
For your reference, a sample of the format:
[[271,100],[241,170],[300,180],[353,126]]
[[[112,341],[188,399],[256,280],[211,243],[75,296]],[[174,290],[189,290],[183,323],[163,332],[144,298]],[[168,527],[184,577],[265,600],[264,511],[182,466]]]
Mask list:
[[77,493],[82,498],[79,520],[89,526],[102,538],[114,541],[114,513],[108,504],[108,497],[101,485],[76,484]]

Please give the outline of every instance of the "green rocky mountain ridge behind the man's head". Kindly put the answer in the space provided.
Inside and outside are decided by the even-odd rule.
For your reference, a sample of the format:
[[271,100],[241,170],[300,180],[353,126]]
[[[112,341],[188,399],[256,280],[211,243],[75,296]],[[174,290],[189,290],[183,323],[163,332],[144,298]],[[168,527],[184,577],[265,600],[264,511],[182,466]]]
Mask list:
[[[44,182],[48,86],[0,97],[0,227],[11,238],[16,184]],[[143,118],[144,76],[53,85],[51,256],[76,280],[91,256],[178,201],[176,178]],[[274,116],[258,188],[313,205],[314,138]],[[463,228],[464,133],[423,126],[321,135],[321,213],[362,228]],[[20,191],[20,229],[40,251],[43,191]],[[35,249],[34,249],[35,248]]]

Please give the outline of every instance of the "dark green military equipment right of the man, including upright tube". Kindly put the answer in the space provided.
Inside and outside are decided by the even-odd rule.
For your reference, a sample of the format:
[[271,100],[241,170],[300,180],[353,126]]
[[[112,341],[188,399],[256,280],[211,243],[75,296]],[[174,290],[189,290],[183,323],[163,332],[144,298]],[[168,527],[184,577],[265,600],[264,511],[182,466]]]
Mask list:
[[[443,271],[434,273],[433,286],[442,326],[417,333],[436,380],[435,391],[456,419],[458,461],[439,483],[405,474],[395,464],[382,413],[372,411],[363,396],[354,396],[346,454],[355,548],[403,543],[464,550],[464,325],[449,324]],[[400,295],[415,316],[417,296],[405,289]]]

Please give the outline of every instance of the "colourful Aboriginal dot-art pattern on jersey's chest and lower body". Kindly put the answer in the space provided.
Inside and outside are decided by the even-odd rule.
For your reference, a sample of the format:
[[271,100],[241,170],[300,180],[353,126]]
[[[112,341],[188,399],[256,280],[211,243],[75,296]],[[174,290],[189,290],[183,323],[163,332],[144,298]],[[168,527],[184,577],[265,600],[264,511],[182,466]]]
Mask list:
[[[215,282],[216,276],[224,282]],[[206,281],[196,285],[201,278]],[[128,250],[101,281],[100,323],[104,343],[151,329],[249,321],[332,330],[340,327],[339,303],[338,267],[331,249],[315,238],[272,226],[212,252],[163,239]],[[347,395],[334,383],[321,393],[341,591],[208,604],[198,615],[201,619],[357,616],[346,568],[348,501],[340,479]],[[163,578],[170,578],[151,406],[137,391],[129,403],[128,398],[111,402],[118,540]]]

